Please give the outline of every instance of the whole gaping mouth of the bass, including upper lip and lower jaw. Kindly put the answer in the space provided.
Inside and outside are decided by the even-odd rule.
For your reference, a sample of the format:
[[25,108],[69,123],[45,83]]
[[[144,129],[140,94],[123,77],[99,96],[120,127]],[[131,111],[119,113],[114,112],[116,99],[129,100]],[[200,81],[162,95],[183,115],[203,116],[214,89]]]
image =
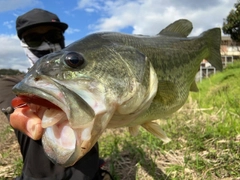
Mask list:
[[[59,85],[51,87],[54,94],[47,92],[44,87],[32,85],[20,82],[13,88],[20,99],[14,106],[18,108],[25,105],[37,114],[44,129],[42,145],[46,155],[53,163],[71,166],[96,142],[96,138],[92,137],[94,111],[81,97],[66,89],[64,91],[68,96],[64,96],[61,93],[63,87]],[[87,120],[83,119],[86,117]]]

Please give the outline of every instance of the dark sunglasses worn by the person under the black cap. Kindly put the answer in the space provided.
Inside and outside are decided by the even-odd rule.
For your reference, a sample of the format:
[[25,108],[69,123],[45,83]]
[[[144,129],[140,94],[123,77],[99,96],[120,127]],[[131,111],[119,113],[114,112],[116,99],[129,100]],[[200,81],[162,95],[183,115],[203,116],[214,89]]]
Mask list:
[[29,47],[38,47],[44,41],[50,43],[59,43],[64,39],[62,31],[59,30],[49,30],[46,33],[29,33],[23,37],[23,42],[25,42]]

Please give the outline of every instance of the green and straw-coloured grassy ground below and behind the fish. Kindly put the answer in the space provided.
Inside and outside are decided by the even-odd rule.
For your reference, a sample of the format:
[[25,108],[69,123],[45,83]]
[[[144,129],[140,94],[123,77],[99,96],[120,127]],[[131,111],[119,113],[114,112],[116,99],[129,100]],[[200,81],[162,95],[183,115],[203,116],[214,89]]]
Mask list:
[[[168,144],[143,129],[136,137],[125,128],[107,130],[99,140],[104,168],[116,180],[239,180],[239,78],[240,63],[229,65],[199,83],[177,113],[158,120]],[[21,158],[12,130],[1,129],[0,179],[6,179],[20,173]]]

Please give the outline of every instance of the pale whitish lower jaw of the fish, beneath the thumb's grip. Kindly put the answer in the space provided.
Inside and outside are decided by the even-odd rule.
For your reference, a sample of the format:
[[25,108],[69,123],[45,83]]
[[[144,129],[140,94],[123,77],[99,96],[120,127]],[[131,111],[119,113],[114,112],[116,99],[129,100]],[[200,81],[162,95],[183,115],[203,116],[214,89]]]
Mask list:
[[72,165],[92,147],[93,122],[72,128],[63,111],[46,109],[42,115],[42,127],[45,128],[43,148],[54,163]]

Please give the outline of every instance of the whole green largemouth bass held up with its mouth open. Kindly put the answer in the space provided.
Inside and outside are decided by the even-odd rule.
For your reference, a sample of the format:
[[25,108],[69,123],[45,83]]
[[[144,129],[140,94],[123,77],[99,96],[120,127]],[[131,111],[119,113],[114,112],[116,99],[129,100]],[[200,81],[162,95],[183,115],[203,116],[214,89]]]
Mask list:
[[190,36],[179,19],[157,35],[97,32],[40,58],[13,87],[40,107],[45,153],[64,167],[81,159],[107,128],[140,127],[170,141],[155,120],[179,110],[207,59],[222,70],[220,28]]

